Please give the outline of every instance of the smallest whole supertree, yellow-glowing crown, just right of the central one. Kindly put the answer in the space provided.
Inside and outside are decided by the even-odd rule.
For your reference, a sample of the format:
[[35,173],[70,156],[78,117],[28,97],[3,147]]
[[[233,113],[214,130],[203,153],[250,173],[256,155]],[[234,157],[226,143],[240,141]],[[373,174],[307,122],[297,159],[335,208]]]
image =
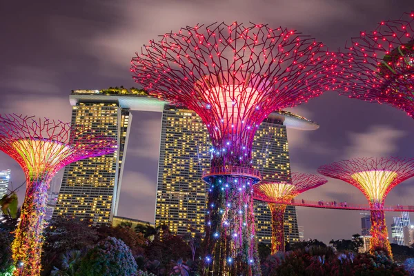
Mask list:
[[[266,179],[254,186],[255,199],[268,202],[272,213],[272,255],[285,250],[284,212],[297,195],[317,188],[328,182],[324,177],[302,172],[293,172],[291,180],[280,180],[277,177]],[[286,204],[275,204],[282,201]]]

